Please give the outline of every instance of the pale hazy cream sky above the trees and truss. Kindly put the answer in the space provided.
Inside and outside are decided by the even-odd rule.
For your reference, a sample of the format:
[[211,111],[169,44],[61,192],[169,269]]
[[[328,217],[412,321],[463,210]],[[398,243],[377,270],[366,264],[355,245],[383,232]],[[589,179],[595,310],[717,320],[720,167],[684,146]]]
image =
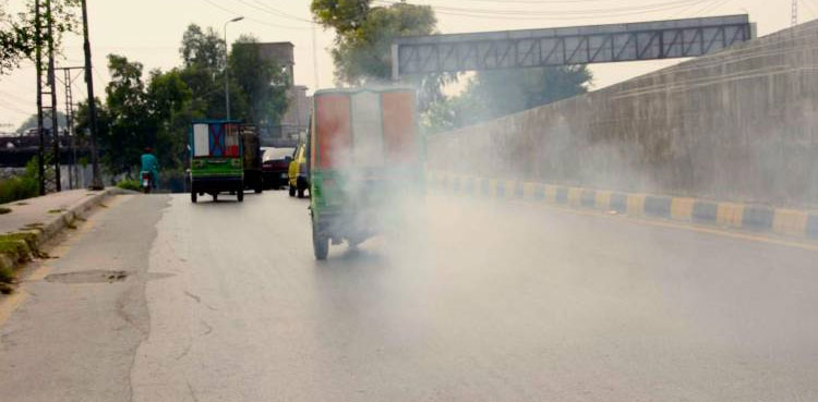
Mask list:
[[[17,11],[24,0],[4,1]],[[119,53],[140,61],[145,71],[168,70],[180,64],[179,44],[185,27],[195,23],[222,31],[225,21],[237,15],[246,20],[230,24],[228,41],[252,34],[261,41],[291,41],[296,45],[296,83],[333,85],[333,65],[327,49],[332,31],[315,28],[315,49],[310,0],[87,0],[95,63],[95,89],[105,94],[108,81],[106,56]],[[802,22],[818,17],[818,0],[798,0]],[[442,33],[504,31],[537,27],[639,22],[693,16],[749,13],[758,34],[767,35],[790,26],[791,0],[410,0],[437,8]],[[376,0],[374,4],[383,4]],[[481,14],[480,17],[465,14]],[[315,58],[313,57],[315,54]],[[317,60],[316,60],[317,59]],[[317,63],[317,74],[313,65]],[[633,62],[593,66],[596,88],[608,86],[678,61]],[[82,40],[65,40],[59,65],[82,64]],[[318,82],[316,83],[316,77]],[[16,129],[36,111],[36,78],[32,62],[10,75],[0,76],[0,124]],[[86,96],[82,78],[74,83],[74,98]],[[59,108],[64,95],[59,93]],[[7,131],[9,126],[0,127]]]

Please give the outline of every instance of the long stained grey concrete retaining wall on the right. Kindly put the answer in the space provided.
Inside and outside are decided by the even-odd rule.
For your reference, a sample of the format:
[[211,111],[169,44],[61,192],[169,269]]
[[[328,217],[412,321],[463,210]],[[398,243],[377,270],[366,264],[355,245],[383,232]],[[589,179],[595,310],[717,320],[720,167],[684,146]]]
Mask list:
[[818,205],[818,22],[429,139],[436,171]]

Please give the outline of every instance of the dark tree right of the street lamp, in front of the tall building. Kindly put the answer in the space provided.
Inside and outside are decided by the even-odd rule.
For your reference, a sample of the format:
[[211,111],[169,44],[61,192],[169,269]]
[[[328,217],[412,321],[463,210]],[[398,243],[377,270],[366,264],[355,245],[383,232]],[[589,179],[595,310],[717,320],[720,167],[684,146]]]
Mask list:
[[257,44],[252,36],[241,36],[230,51],[231,88],[244,101],[236,117],[257,126],[278,125],[287,111],[290,78],[282,66],[262,58]]

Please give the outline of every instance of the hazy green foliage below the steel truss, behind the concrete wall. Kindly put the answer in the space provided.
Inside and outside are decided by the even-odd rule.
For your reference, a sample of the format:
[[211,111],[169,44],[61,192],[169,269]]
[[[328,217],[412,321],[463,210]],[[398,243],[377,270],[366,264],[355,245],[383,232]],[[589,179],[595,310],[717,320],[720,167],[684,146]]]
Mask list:
[[424,129],[437,133],[477,124],[588,92],[586,65],[481,71],[459,96],[431,105]]

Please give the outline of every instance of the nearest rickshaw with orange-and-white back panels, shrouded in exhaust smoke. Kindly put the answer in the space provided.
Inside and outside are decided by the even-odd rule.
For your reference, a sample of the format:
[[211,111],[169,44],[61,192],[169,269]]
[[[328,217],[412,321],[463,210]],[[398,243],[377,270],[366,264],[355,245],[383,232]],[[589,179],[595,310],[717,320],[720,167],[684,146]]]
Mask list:
[[308,135],[313,249],[354,247],[393,226],[422,188],[413,88],[318,90]]

